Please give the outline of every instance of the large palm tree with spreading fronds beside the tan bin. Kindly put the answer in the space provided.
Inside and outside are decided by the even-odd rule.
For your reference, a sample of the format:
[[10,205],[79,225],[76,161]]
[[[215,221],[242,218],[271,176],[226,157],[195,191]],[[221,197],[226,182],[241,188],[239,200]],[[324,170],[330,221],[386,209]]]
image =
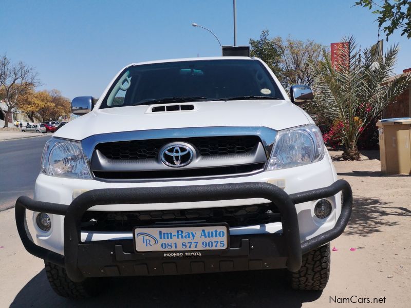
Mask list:
[[309,111],[333,127],[344,145],[344,160],[359,160],[357,142],[365,126],[381,116],[383,109],[395,103],[411,82],[411,74],[393,77],[398,44],[389,47],[383,57],[372,49],[357,49],[352,36],[344,38],[337,64],[323,50],[324,60],[313,65],[314,102]]

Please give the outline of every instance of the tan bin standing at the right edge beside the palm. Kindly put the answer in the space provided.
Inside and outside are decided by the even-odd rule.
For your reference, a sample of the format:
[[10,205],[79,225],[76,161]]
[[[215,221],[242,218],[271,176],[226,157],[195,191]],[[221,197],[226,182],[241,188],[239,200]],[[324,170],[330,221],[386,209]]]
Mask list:
[[390,174],[411,173],[411,118],[383,119],[377,122],[380,140],[381,171]]

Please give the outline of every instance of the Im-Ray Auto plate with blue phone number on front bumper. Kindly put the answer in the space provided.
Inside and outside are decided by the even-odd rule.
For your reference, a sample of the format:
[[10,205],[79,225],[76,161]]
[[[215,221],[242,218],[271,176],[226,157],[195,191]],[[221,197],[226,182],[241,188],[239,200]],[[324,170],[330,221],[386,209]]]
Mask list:
[[228,224],[135,227],[136,252],[221,251],[229,248]]

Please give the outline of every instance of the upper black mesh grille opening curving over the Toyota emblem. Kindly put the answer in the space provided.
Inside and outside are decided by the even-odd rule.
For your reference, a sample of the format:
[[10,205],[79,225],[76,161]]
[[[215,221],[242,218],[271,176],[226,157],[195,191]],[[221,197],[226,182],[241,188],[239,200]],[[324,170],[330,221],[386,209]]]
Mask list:
[[108,159],[155,159],[160,149],[170,142],[191,143],[201,156],[222,156],[249,153],[260,142],[257,136],[195,137],[179,139],[132,140],[100,143],[100,150]]

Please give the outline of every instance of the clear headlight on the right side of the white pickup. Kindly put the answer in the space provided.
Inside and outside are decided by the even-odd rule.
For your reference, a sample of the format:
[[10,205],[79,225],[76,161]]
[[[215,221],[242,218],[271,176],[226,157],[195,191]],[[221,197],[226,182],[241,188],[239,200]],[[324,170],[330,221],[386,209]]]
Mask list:
[[278,131],[267,171],[302,166],[324,157],[324,141],[315,125]]

